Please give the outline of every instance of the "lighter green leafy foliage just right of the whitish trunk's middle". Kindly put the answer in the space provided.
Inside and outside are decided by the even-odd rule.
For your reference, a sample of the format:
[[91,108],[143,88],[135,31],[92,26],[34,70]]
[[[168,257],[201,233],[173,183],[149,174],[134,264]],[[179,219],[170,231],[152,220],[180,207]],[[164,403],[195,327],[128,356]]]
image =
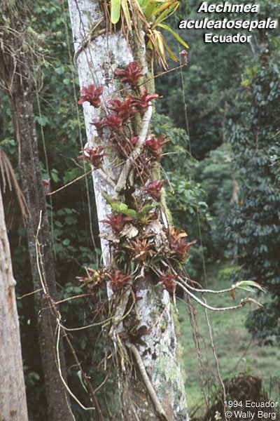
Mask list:
[[[169,140],[165,144],[162,165],[169,179],[165,191],[174,225],[188,232],[190,240],[200,241],[200,234],[207,236],[209,233],[211,215],[207,194],[202,184],[193,178],[198,162],[190,155],[188,135],[182,128],[174,128],[167,116],[155,114],[153,117],[153,133],[156,136],[164,134]],[[200,279],[203,272],[202,250],[193,247],[189,253],[188,272],[194,279]]]

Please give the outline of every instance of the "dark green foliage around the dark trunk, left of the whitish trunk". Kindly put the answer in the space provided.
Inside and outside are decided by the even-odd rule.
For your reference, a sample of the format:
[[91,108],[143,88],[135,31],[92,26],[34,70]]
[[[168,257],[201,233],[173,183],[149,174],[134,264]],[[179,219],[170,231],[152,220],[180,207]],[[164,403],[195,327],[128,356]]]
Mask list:
[[[66,7],[66,2],[64,5]],[[41,62],[35,62],[32,69],[37,83],[37,88],[36,86],[34,88],[34,112],[41,172],[43,179],[50,178],[52,191],[84,173],[83,166],[76,160],[82,149],[80,140],[85,143],[82,110],[78,110],[75,98],[75,93],[78,95],[79,92],[78,77],[71,60],[73,51],[69,15],[67,12],[64,14],[62,6],[63,2],[59,4],[55,0],[38,0],[30,15],[34,31],[45,35],[45,43],[41,43],[44,58],[41,58]],[[68,40],[67,35],[69,35]],[[4,93],[1,95],[0,107],[1,146],[13,160],[14,168],[17,168],[18,148],[10,122],[8,99]],[[80,131],[82,131],[81,138]],[[76,276],[84,275],[84,267],[96,268],[99,265],[99,237],[92,199],[92,182],[90,178],[87,180],[90,190],[87,192],[85,180],[86,178],[83,178],[54,194],[51,200],[47,198],[55,250],[55,272],[61,300],[81,292]],[[97,248],[94,248],[93,241]],[[24,230],[10,233],[10,246],[13,253],[14,276],[17,279],[17,293],[21,296],[32,291]],[[37,335],[37,323],[40,318],[34,313],[34,295],[18,300],[18,304],[29,416],[33,420],[45,420],[47,404]],[[82,298],[64,302],[60,311],[66,326],[76,328],[92,323],[94,305],[94,302],[85,302]],[[88,310],[87,316],[85,307]],[[87,375],[90,375],[92,387],[95,389],[102,383],[106,374],[101,367],[97,368],[92,360],[101,361],[107,345],[102,340],[96,343],[100,328],[94,329],[90,335],[89,330],[71,332],[70,338],[78,359],[83,361],[83,368]],[[90,406],[91,403],[86,401],[85,391],[80,384],[71,350],[67,347],[66,363],[70,367],[69,386],[81,401]],[[104,401],[102,407],[105,408],[105,417],[110,419],[109,413],[106,413],[108,408],[106,399],[112,402],[112,405],[116,403],[114,395],[116,379],[110,376],[107,385],[109,387],[106,387],[106,392],[102,389],[98,397]],[[117,403],[115,406],[118,407]],[[92,419],[92,415],[85,413],[75,404],[73,409],[76,420]]]

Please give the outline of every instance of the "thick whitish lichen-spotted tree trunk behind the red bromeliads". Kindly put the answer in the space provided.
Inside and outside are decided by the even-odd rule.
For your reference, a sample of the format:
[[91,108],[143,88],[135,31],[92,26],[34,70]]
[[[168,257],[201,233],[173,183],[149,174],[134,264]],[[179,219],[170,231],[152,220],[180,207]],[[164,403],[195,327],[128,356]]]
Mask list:
[[[103,86],[102,100],[106,102],[121,89],[119,81],[114,76],[114,70],[117,67],[124,67],[133,60],[137,60],[139,64],[145,65],[148,72],[143,34],[140,34],[140,39],[136,34],[130,33],[127,43],[120,32],[106,31],[106,23],[103,26],[99,25],[92,32],[91,29],[102,18],[98,1],[69,0],[69,9],[76,51],[74,60],[78,68],[80,87],[87,87],[91,83]],[[151,92],[151,83],[149,90]],[[92,118],[100,116],[100,112],[88,103],[85,103],[83,107],[87,140],[90,145],[94,145],[97,133],[90,123]],[[103,169],[107,174],[107,181],[111,178],[114,183],[117,183],[123,168],[113,166],[110,157],[104,161]],[[106,182],[99,171],[92,171],[92,178],[100,221],[106,219],[106,214],[109,213],[109,207],[106,206],[102,193],[107,192],[110,196],[115,196],[116,189],[111,187],[113,183],[110,180]],[[160,222],[158,230],[159,236],[165,236]],[[107,239],[113,233],[109,225],[100,222],[99,232],[102,239],[104,265],[110,267],[113,265],[113,256]],[[127,255],[127,260],[129,259]],[[139,279],[134,281],[137,295],[141,297],[141,300],[137,302],[139,326],[146,326],[151,330],[149,335],[143,337],[145,345],[134,345],[130,340],[120,341],[118,323],[115,330],[111,332],[115,340],[116,355],[121,355],[118,359],[118,375],[123,420],[186,421],[188,410],[169,293],[166,290],[162,291],[154,284],[155,279],[151,274],[139,276]],[[122,316],[124,312],[125,306],[117,316]]]

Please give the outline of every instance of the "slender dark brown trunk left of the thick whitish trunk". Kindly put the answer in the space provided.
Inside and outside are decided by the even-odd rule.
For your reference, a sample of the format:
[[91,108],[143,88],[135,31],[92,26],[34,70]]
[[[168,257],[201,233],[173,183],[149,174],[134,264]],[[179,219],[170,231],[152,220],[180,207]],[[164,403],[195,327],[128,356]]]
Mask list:
[[[27,241],[34,290],[41,288],[35,237],[40,212],[42,213],[38,242],[41,244],[42,270],[45,272],[47,285],[45,286],[46,293],[41,292],[41,298],[36,298],[35,306],[38,314],[41,314],[41,318],[38,319],[38,334],[48,401],[48,420],[67,421],[73,420],[73,416],[71,415],[68,394],[57,369],[55,352],[57,321],[48,300],[48,295],[53,300],[56,300],[57,288],[45,193],[39,168],[38,142],[31,95],[29,53],[25,45],[25,11],[22,11],[21,14],[18,11],[20,14],[20,18],[18,18],[13,15],[15,9],[12,10],[9,6],[3,4],[2,12],[3,19],[6,19],[8,15],[10,27],[7,26],[6,29],[2,29],[0,76],[10,100],[15,138],[18,142],[22,192],[25,194],[31,215],[27,220]],[[66,365],[62,342],[59,345],[59,359],[62,375],[66,380]]]

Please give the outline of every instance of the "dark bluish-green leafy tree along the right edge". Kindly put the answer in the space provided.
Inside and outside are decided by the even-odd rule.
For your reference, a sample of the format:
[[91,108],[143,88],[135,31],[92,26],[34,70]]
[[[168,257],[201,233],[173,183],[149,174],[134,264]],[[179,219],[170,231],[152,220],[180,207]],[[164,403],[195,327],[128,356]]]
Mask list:
[[[241,119],[231,142],[239,172],[239,204],[228,219],[228,240],[244,277],[267,288],[270,299],[247,326],[260,340],[280,338],[279,272],[279,53],[246,69],[245,91],[237,94]],[[245,79],[244,79],[245,80]]]

